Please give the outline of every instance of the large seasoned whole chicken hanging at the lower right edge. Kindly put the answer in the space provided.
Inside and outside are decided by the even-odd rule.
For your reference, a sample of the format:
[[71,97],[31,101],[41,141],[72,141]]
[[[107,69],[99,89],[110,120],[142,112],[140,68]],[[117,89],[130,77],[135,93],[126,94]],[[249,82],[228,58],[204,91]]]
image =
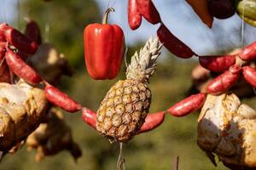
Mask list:
[[208,94],[197,133],[197,144],[213,164],[216,154],[227,167],[256,167],[256,111],[236,94]]

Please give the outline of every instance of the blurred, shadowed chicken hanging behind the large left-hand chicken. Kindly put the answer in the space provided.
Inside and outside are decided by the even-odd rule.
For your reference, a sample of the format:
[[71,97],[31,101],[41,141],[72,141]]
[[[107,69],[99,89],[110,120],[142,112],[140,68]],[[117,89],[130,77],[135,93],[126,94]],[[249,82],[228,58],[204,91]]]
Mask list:
[[61,150],[69,150],[75,160],[82,155],[79,145],[73,142],[71,128],[65,122],[62,112],[54,107],[49,110],[44,122],[28,136],[26,147],[27,150],[38,151],[36,161],[41,161],[44,156],[53,156]]

